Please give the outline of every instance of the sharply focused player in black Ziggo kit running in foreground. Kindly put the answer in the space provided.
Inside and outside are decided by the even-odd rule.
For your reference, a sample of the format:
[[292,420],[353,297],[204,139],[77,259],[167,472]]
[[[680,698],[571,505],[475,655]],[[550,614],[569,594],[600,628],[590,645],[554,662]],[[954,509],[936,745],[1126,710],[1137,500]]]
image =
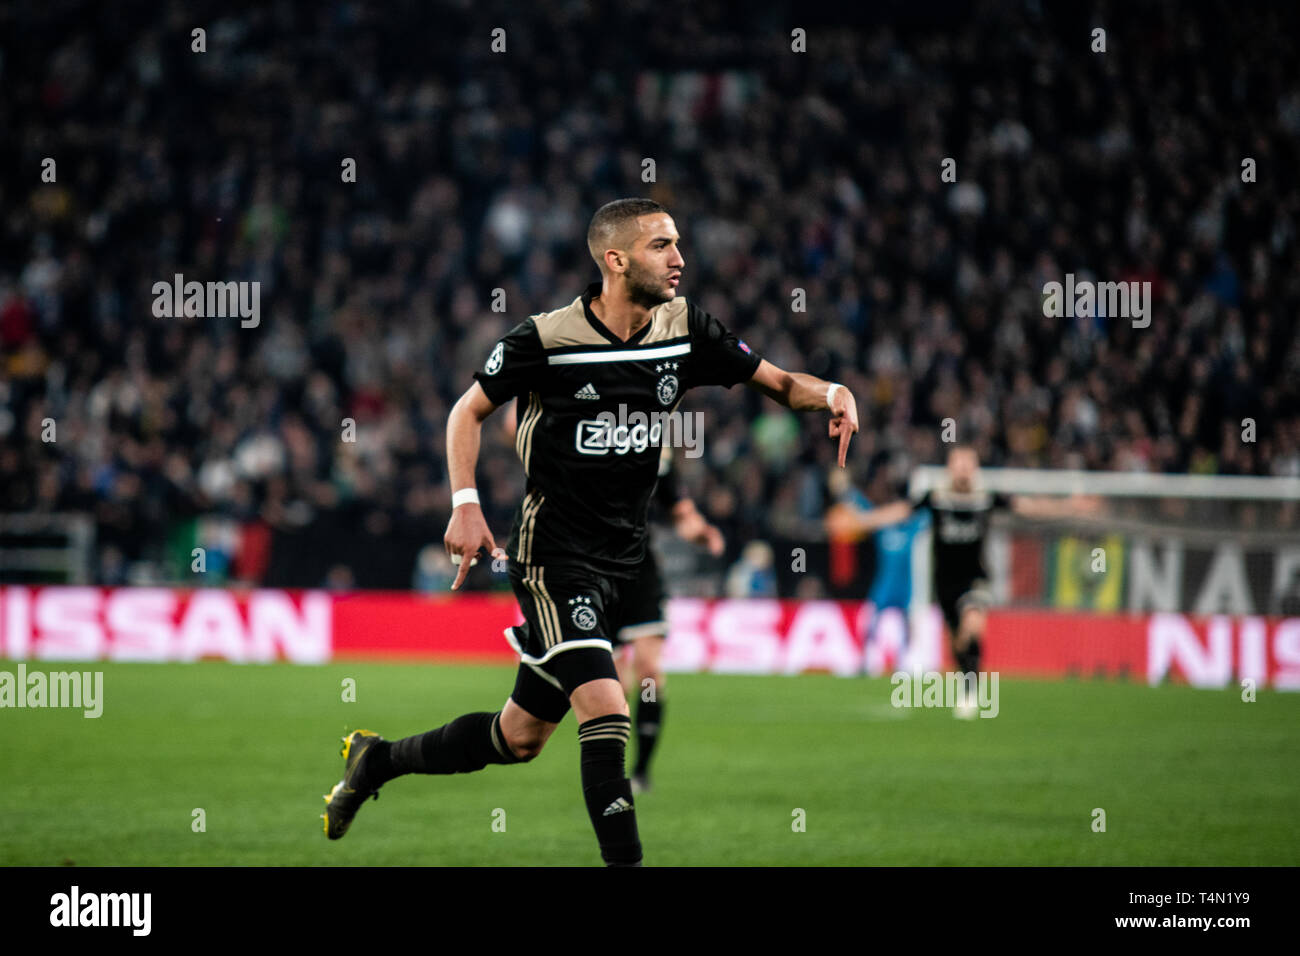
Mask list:
[[[460,587],[480,551],[508,558],[525,619],[506,631],[520,657],[515,688],[499,711],[464,714],[402,740],[348,734],[343,779],[325,797],[332,839],[395,777],[533,760],[572,709],[601,857],[611,866],[641,864],[624,769],[632,722],[612,641],[646,558],[646,510],[664,437],[653,414],[676,408],[690,388],[748,382],[788,408],[829,411],[840,467],[858,431],[846,388],[772,365],[677,298],[685,268],[679,239],[659,203],[620,199],[601,207],[588,229],[601,282],[511,329],[451,410],[452,512],[443,536],[459,563],[451,587]],[[514,398],[524,410],[515,450],[526,493],[503,553],[478,506],[474,466],[484,421]]]

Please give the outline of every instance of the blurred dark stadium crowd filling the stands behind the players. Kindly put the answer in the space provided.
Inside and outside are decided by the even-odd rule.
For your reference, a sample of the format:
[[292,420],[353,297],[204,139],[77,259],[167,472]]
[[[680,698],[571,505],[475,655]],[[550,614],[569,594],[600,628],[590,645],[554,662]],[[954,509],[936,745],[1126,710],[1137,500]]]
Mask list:
[[[586,224],[624,195],[675,213],[682,294],[857,393],[858,480],[940,460],[945,418],[988,464],[1300,473],[1300,8],[727,9],[3,8],[0,509],[91,512],[103,583],[177,576],[169,536],[212,518],[252,529],[233,578],[410,585],[451,403],[597,277]],[[1066,272],[1150,281],[1150,326],[1044,319]],[[259,281],[260,326],[155,317],[176,273]],[[820,535],[820,419],[686,407],[732,561]],[[523,475],[489,425],[502,540]]]

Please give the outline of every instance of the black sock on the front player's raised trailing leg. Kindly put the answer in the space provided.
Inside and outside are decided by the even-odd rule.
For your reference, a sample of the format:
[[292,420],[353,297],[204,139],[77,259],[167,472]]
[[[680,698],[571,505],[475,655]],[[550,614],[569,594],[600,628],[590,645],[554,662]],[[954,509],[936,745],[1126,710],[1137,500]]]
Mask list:
[[520,763],[500,732],[500,711],[464,714],[437,730],[374,744],[367,756],[367,784],[402,774],[468,774],[489,763]]

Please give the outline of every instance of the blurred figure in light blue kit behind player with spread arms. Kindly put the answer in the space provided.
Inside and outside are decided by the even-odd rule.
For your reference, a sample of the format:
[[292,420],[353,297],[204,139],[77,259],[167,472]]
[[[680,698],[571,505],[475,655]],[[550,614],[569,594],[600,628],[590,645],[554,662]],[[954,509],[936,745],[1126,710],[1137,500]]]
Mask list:
[[[827,511],[827,531],[832,537],[857,540],[864,533],[859,518],[872,511],[879,503],[893,501],[898,493],[890,488],[889,471],[884,457],[878,457],[867,475],[867,493],[863,494],[849,480],[846,472],[832,471],[829,477],[831,494],[835,505]],[[880,637],[880,626],[896,615],[904,636],[898,648],[900,657],[905,653],[907,639],[907,607],[911,605],[911,545],[916,535],[930,527],[930,512],[918,510],[901,522],[888,524],[875,532],[875,574],[871,578],[871,620],[867,624],[863,641],[862,667],[870,672],[870,649]]]

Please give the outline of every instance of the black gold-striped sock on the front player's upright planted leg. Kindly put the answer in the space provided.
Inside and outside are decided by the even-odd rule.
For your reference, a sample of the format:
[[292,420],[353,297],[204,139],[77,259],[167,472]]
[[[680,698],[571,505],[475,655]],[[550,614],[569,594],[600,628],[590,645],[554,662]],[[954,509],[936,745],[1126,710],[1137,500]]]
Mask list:
[[597,717],[577,728],[582,750],[582,797],[601,844],[601,858],[608,866],[641,864],[632,783],[623,763],[630,734],[632,721],[623,714]]

